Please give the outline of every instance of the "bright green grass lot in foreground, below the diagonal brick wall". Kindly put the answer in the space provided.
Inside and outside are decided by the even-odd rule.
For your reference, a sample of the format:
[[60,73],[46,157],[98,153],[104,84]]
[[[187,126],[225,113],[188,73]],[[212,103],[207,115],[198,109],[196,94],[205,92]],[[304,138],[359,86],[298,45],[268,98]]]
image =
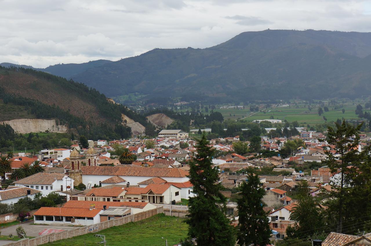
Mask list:
[[[161,225],[161,227],[160,227]],[[100,242],[94,234],[106,236],[109,246],[163,246],[167,239],[168,245],[174,245],[184,239],[188,233],[188,226],[177,217],[158,214],[141,222],[131,222],[122,226],[114,226],[98,233],[90,233],[70,239],[59,240],[44,244],[53,246],[85,246],[96,245]]]

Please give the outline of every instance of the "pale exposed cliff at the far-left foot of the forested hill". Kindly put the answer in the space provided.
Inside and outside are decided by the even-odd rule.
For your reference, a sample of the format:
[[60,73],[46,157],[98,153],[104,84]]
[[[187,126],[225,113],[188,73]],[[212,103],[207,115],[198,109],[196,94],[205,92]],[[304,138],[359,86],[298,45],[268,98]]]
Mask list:
[[55,119],[12,119],[10,121],[0,121],[0,124],[9,124],[15,132],[67,132],[66,125],[57,125]]

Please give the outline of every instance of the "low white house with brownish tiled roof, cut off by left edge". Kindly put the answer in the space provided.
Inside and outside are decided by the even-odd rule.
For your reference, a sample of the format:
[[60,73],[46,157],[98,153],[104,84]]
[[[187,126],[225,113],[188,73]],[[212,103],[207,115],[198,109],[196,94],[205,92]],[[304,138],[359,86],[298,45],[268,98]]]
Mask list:
[[30,197],[33,199],[40,191],[24,186],[8,186],[6,190],[0,190],[0,203],[17,203],[19,199]]

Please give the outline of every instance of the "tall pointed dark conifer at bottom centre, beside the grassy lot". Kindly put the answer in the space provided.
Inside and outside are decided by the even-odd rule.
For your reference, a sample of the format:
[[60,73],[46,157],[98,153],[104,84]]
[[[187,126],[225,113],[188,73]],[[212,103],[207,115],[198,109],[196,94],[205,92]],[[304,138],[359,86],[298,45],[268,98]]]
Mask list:
[[219,192],[218,170],[212,167],[213,150],[208,144],[203,134],[198,140],[197,154],[190,162],[189,179],[196,196],[188,201],[188,236],[196,238],[197,245],[234,246],[233,228],[223,212],[226,198]]

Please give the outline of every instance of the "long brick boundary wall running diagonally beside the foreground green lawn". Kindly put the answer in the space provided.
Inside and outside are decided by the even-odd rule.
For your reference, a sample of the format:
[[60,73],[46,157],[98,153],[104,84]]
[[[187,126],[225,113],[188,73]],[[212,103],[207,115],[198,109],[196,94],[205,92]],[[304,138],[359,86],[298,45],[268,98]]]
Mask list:
[[90,226],[77,227],[72,230],[65,230],[63,232],[50,233],[44,236],[35,237],[33,239],[22,239],[17,242],[7,243],[3,246],[37,246],[44,243],[50,243],[57,240],[62,240],[70,237],[80,236],[92,232],[99,232],[101,230],[107,229],[112,226],[121,226],[122,224],[127,224],[129,222],[137,222],[139,220],[144,220],[152,217],[156,214],[163,213],[163,207],[158,207],[157,209],[152,209],[144,211],[142,213],[132,214],[125,217],[121,217],[115,220],[106,220],[98,224],[92,224]]

